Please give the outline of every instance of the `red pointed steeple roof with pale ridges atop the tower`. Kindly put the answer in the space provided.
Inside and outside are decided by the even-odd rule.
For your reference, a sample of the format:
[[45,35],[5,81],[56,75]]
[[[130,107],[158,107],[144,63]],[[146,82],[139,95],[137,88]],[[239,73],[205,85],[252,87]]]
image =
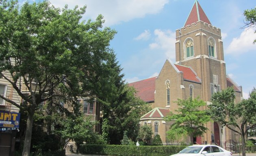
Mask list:
[[190,25],[192,23],[196,23],[198,21],[202,21],[207,24],[211,24],[206,16],[206,14],[204,13],[202,7],[197,2],[197,0],[195,0],[195,3],[189,13],[189,17],[187,18],[187,21],[184,26],[188,26],[188,25]]

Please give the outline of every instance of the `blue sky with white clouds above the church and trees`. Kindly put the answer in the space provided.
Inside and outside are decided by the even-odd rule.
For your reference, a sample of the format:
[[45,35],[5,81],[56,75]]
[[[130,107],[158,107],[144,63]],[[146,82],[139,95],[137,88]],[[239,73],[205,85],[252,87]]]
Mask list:
[[[20,1],[22,3],[22,1]],[[50,0],[56,7],[87,5],[84,20],[102,14],[104,26],[117,30],[110,47],[127,82],[157,76],[167,58],[175,63],[175,30],[182,28],[194,0]],[[221,29],[227,74],[243,87],[244,98],[256,87],[256,39],[244,26],[243,11],[255,0],[198,0],[211,24]]]

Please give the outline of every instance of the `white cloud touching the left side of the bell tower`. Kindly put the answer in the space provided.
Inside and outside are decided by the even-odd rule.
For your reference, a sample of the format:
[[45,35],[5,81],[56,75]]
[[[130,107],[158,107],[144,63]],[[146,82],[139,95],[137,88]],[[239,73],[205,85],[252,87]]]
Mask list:
[[150,48],[163,50],[167,58],[175,59],[175,32],[156,29],[154,35],[156,35],[155,42],[150,44]]

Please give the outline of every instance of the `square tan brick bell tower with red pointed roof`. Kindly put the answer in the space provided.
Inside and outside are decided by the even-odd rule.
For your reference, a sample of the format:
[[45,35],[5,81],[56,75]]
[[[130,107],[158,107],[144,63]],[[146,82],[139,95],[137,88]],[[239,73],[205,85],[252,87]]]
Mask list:
[[221,30],[195,0],[184,27],[176,30],[176,63],[190,66],[202,80],[202,100],[227,87]]

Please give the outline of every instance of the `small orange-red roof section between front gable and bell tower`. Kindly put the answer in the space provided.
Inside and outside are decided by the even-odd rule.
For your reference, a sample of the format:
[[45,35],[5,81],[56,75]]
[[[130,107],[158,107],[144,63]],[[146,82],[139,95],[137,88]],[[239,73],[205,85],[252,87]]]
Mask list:
[[192,71],[191,68],[183,66],[183,65],[177,65],[177,64],[175,64],[175,66],[178,68],[179,71],[183,72],[184,79],[201,83],[201,80],[199,78],[197,78],[197,75]]

